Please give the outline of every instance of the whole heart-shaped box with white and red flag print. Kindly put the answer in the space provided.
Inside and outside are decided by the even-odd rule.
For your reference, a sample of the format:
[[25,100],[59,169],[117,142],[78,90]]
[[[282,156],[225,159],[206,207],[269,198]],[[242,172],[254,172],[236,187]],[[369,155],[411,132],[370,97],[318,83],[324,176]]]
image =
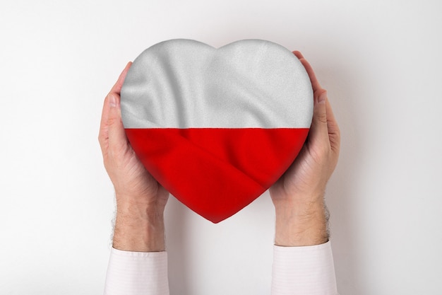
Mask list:
[[262,195],[294,161],[311,125],[313,91],[299,59],[274,42],[216,49],[167,40],[133,62],[121,116],[153,177],[217,223]]

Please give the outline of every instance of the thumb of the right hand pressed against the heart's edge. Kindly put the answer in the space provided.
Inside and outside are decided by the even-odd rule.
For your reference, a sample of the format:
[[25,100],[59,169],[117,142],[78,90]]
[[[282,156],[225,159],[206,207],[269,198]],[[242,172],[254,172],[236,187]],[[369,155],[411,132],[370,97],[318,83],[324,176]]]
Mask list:
[[313,141],[328,140],[327,128],[327,91],[324,89],[314,93],[313,120],[311,121],[310,136]]

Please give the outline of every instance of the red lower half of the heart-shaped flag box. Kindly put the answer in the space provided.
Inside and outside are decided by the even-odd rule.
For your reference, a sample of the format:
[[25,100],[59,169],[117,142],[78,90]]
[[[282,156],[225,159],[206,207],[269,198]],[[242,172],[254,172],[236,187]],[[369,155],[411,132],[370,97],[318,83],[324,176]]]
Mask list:
[[187,207],[214,223],[239,212],[292,164],[308,128],[126,129],[138,158]]

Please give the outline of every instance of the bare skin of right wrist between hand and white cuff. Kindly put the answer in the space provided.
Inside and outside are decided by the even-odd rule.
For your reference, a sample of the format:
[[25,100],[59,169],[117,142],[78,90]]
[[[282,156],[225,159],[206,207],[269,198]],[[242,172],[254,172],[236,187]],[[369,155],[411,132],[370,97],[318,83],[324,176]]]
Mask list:
[[[328,241],[328,211],[323,195],[275,204],[275,245],[319,245]],[[307,200],[307,201],[305,201]]]

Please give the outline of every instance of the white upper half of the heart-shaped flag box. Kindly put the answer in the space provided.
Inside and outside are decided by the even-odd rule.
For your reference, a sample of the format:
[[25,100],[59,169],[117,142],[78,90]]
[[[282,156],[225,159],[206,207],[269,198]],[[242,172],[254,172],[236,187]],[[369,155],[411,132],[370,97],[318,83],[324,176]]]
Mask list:
[[133,62],[121,115],[125,128],[309,128],[313,91],[299,59],[276,43],[168,40]]

